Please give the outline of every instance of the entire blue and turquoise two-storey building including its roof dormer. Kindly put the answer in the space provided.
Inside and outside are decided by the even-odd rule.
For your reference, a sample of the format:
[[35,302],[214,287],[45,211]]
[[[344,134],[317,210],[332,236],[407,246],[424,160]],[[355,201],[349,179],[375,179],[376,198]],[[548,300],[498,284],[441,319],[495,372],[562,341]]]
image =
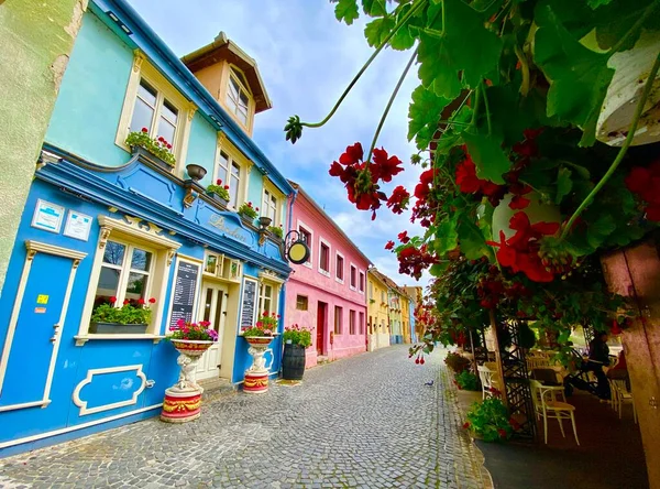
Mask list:
[[[219,334],[198,380],[242,381],[241,328],[284,312],[290,272],[282,241],[237,213],[250,202],[288,228],[295,192],[251,139],[268,108],[254,59],[224,34],[179,59],[125,0],[90,0],[0,297],[0,455],[157,414],[180,317]],[[205,192],[217,180],[227,203]],[[124,301],[151,308],[142,329],[91,322]]]

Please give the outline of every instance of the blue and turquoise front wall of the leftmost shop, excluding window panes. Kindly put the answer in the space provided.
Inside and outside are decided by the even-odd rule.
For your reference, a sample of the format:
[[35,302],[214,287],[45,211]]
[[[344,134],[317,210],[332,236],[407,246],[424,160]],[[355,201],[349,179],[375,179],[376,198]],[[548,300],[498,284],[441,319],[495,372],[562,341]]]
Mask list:
[[[207,169],[199,183],[116,144],[136,48],[196,107],[187,152],[179,157]],[[254,165],[244,200],[258,202],[262,175],[268,175],[290,202],[294,191],[284,176],[130,7],[91,1],[0,296],[0,456],[160,412],[165,389],[178,376],[177,354],[164,337],[184,301],[183,263],[197,268],[187,318],[201,317],[207,280],[227,291],[220,376],[242,381],[251,362],[239,336],[246,317],[246,280],[272,284],[272,302],[284,313],[284,282],[290,269],[279,240],[260,239],[255,226],[205,195],[219,132]],[[282,222],[286,204],[282,203]],[[146,333],[89,329],[95,294],[106,280],[100,279],[105,253],[113,240],[151,250],[147,279],[156,303]],[[232,268],[230,275],[211,276],[209,253],[237,265],[238,272],[232,274]],[[121,273],[129,274],[127,283],[141,276],[133,268]],[[254,307],[261,304],[260,290]],[[280,330],[283,324],[284,318]],[[272,372],[279,369],[280,348],[279,340],[273,341]]]

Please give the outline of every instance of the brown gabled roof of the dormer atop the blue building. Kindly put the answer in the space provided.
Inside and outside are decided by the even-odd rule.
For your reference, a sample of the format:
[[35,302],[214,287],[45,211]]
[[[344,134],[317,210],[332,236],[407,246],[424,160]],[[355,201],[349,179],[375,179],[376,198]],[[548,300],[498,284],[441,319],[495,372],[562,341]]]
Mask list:
[[229,40],[224,32],[220,31],[212,43],[182,57],[182,62],[193,73],[206,68],[207,66],[215,65],[221,59],[226,59],[229,63],[237,65],[245,74],[248,85],[250,85],[252,96],[256,104],[255,112],[258,113],[273,107],[268,94],[266,93],[264,82],[256,67],[256,62],[248,56],[248,54],[245,54],[245,52],[235,43]]

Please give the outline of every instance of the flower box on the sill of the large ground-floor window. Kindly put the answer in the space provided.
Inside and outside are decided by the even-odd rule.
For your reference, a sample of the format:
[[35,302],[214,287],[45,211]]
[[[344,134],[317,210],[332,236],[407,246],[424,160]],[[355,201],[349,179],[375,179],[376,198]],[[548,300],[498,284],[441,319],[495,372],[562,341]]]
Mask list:
[[110,297],[108,302],[97,305],[91,313],[89,333],[95,334],[144,334],[151,322],[151,304],[155,304],[154,297],[138,301],[125,300],[121,307],[116,307],[117,297]]

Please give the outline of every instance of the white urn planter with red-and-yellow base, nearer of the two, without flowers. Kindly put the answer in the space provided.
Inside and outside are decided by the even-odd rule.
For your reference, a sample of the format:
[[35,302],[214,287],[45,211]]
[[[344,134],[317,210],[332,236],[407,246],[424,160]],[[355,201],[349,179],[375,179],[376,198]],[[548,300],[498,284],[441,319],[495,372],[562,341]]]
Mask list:
[[165,390],[161,420],[168,423],[186,423],[197,420],[200,414],[204,389],[197,383],[197,361],[213,341],[193,339],[173,339],[172,346],[179,356],[176,360],[180,367],[178,381]]

